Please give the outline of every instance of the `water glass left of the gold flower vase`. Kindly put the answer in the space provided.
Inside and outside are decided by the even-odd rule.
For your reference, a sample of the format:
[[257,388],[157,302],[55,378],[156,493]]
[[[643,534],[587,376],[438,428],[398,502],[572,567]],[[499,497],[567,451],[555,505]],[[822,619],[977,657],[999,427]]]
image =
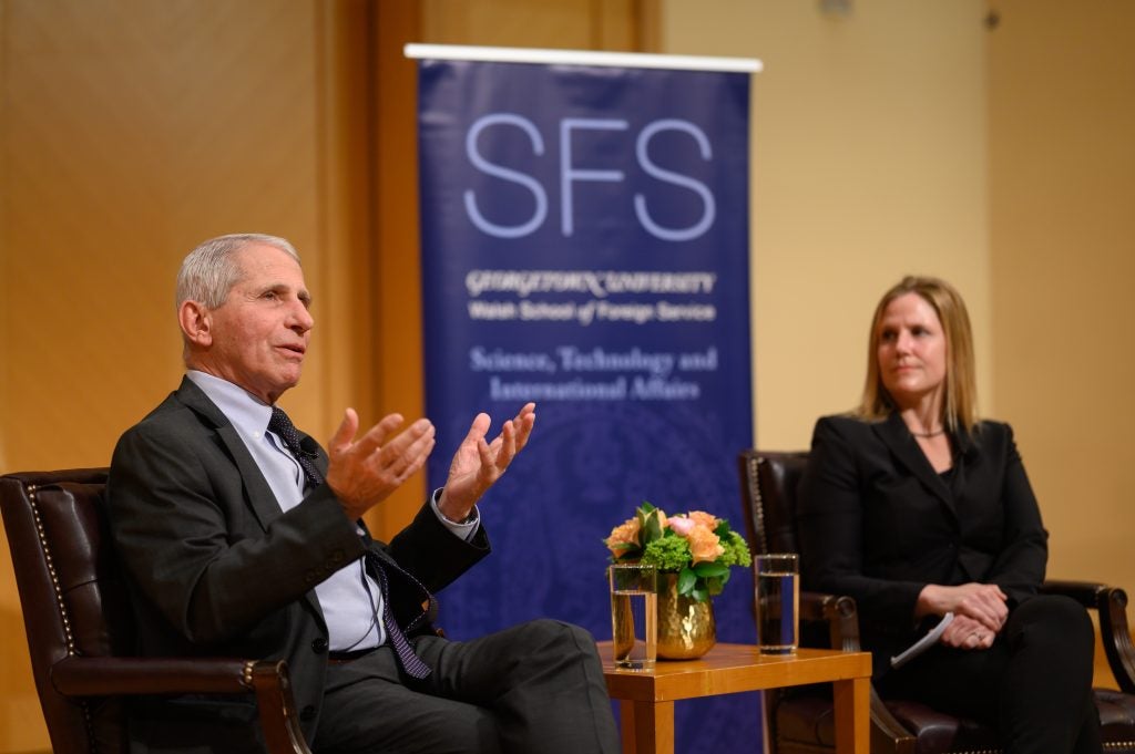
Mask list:
[[615,667],[653,670],[658,654],[657,570],[641,564],[616,564],[608,576]]

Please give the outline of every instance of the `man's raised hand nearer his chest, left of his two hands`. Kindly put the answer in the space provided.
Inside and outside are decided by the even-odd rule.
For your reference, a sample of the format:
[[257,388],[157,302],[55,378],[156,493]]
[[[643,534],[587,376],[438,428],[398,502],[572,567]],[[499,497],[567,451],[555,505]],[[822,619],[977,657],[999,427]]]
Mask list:
[[403,432],[400,414],[389,414],[358,440],[359,415],[346,410],[327,447],[327,484],[355,520],[402,486],[434,449],[434,425],[420,418]]

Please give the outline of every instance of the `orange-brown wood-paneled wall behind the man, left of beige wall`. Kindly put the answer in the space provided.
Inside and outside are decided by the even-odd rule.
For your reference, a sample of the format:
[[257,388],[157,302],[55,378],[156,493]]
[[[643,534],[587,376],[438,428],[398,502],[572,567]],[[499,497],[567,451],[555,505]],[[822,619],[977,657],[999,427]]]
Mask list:
[[[630,50],[642,7],[0,0],[0,471],[109,463],[179,380],[177,266],[224,232],[285,236],[303,256],[317,327],[283,401],[297,424],[328,437],[348,405],[420,415],[403,45]],[[372,525],[397,527],[423,492],[419,475]],[[0,668],[0,753],[45,749],[7,554]]]

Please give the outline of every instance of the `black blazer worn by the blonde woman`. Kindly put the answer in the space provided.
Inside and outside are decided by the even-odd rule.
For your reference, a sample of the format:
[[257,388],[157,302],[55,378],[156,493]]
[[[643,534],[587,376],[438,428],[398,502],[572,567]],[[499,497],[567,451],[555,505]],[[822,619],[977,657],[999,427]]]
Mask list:
[[927,584],[997,584],[1010,609],[1044,581],[1048,533],[1008,424],[951,438],[939,475],[901,417],[816,423],[797,525],[805,588],[855,598],[876,675],[913,643]]

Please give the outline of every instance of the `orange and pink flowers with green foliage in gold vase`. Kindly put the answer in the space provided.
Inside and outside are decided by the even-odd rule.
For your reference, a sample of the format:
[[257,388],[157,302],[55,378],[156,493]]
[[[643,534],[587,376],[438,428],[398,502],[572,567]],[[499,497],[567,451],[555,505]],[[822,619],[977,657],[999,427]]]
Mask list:
[[603,541],[612,562],[644,562],[678,574],[678,593],[705,602],[721,594],[731,566],[749,566],[745,539],[704,510],[667,516],[649,502]]

